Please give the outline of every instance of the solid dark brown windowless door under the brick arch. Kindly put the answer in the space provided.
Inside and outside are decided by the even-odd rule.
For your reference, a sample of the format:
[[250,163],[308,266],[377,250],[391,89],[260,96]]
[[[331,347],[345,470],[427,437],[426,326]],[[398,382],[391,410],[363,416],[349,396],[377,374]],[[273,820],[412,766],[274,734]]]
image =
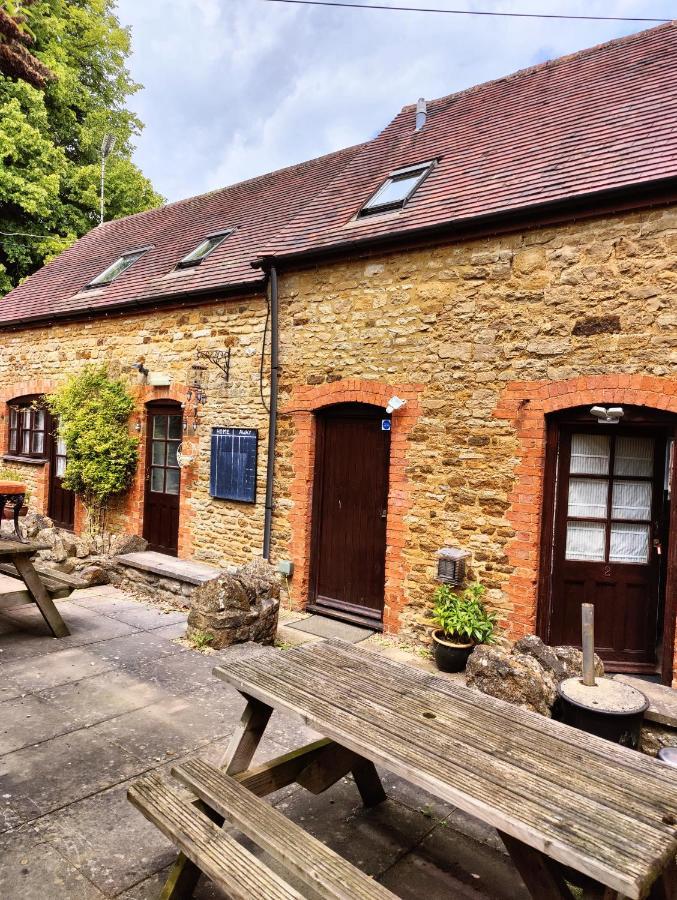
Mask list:
[[362,404],[318,415],[311,606],[371,625],[383,618],[387,418]]

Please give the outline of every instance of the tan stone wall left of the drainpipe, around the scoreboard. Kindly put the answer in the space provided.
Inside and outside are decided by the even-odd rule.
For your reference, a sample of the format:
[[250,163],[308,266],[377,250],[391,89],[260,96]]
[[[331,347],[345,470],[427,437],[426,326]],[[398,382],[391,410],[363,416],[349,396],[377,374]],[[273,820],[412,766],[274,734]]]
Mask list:
[[[209,441],[212,426],[260,430],[257,494],[265,492],[266,429],[268,417],[261,403],[259,366],[266,304],[263,297],[229,300],[194,308],[110,316],[93,321],[55,324],[3,335],[0,356],[0,447],[7,447],[7,401],[27,394],[54,390],[63,379],[87,363],[106,363],[122,376],[137,397],[137,412],[130,429],[141,426],[142,462],[132,490],[111,517],[114,530],[140,533],[143,517],[143,457],[145,410],[149,400],[186,399],[186,381],[198,349],[231,348],[230,380],[224,384],[219,370],[210,366],[207,403],[201,411],[197,437],[200,455],[182,473],[179,552],[215,565],[244,563],[260,552],[263,504],[214,500],[209,496]],[[150,388],[132,369],[143,361],[151,372],[169,373],[169,389]],[[268,362],[266,360],[266,371]],[[18,377],[20,373],[20,378]],[[267,380],[264,385],[267,393]],[[47,511],[48,464],[15,461],[32,490],[31,506]],[[76,530],[84,526],[82,510]]]

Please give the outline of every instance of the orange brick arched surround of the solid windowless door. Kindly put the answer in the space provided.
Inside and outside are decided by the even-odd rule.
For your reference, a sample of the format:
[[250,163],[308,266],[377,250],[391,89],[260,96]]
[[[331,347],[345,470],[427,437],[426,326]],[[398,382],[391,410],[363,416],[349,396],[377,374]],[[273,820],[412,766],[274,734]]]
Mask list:
[[405,603],[405,516],[411,505],[411,485],[406,475],[407,444],[409,434],[420,415],[419,395],[422,388],[420,384],[388,384],[360,378],[342,379],[330,384],[302,385],[294,388],[288,403],[281,410],[281,414],[291,417],[294,424],[290,552],[295,566],[294,593],[304,605],[310,579],[316,439],[313,413],[337,403],[368,403],[385,409],[390,398],[397,395],[407,403],[392,415],[383,626],[385,631],[398,630],[399,615]]

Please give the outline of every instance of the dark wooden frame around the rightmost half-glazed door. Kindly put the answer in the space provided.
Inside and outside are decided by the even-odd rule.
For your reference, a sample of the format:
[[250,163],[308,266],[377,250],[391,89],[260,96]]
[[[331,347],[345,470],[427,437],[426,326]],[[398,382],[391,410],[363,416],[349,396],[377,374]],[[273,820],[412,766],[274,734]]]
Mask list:
[[[605,404],[612,405],[612,404]],[[626,415],[630,418],[623,421],[632,427],[650,426],[664,430],[668,440],[675,441],[677,453],[677,415],[665,410],[651,407],[622,404]],[[543,472],[543,494],[541,500],[541,553],[538,576],[538,601],[536,613],[536,633],[545,643],[549,639],[549,626],[552,606],[552,567],[554,552],[554,507],[556,503],[555,486],[557,481],[557,464],[560,431],[563,426],[590,426],[594,421],[590,415],[590,407],[575,407],[560,410],[546,416],[546,442]],[[609,429],[613,425],[606,426]],[[661,680],[663,684],[672,684],[673,658],[675,642],[675,614],[677,613],[677,460],[673,460],[672,484],[670,486],[670,519],[668,522],[668,546],[665,548],[666,578],[665,601],[663,611],[663,638],[661,652]]]

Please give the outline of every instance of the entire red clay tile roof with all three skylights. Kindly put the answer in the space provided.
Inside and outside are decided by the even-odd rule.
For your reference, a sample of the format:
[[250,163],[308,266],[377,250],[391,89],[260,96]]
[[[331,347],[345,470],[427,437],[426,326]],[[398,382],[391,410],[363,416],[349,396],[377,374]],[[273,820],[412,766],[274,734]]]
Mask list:
[[[226,292],[262,279],[250,261],[454,226],[677,176],[677,22],[561,57],[428,104],[406,106],[373,141],[108,222],[0,301],[0,327]],[[355,221],[393,169],[436,159],[405,208]],[[178,261],[236,227],[195,268]],[[107,287],[85,285],[153,245]]]

